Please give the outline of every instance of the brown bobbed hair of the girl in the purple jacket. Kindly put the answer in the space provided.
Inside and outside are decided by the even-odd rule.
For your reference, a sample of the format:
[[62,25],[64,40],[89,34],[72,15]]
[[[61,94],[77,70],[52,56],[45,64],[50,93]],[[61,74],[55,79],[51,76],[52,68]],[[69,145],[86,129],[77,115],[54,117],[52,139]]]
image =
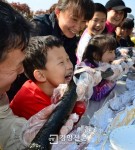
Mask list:
[[82,61],[101,61],[102,55],[106,51],[116,49],[116,40],[110,34],[95,35],[92,37],[84,51]]

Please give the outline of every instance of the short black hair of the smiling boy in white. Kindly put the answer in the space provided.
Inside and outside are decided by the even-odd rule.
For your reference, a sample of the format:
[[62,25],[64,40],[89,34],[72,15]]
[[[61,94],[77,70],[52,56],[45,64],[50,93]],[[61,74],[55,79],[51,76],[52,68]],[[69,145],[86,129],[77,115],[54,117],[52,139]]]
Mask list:
[[104,5],[101,3],[94,3],[95,4],[95,12],[102,12],[106,15],[107,18],[107,9],[105,8]]

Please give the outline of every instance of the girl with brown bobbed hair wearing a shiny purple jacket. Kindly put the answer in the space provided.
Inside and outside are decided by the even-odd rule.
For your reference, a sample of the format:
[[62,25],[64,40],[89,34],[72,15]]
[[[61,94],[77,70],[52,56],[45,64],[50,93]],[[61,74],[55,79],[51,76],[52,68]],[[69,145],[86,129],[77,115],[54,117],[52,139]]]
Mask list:
[[[116,41],[111,35],[96,35],[88,43],[82,61],[91,68],[97,68],[104,62],[111,63],[115,59],[115,48]],[[102,79],[102,81],[94,87],[91,100],[102,100],[110,93],[114,86],[114,82]]]

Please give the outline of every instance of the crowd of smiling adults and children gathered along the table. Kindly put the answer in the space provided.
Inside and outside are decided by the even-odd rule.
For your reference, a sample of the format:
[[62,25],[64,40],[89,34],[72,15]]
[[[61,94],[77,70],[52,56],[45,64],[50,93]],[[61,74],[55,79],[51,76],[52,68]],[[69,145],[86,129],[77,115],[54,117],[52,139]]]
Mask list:
[[[27,20],[0,1],[0,150],[30,145],[61,99],[52,98],[54,90],[73,80],[76,65],[94,69],[125,61],[116,49],[135,47],[131,12],[123,0],[108,0],[105,6],[92,0],[58,0],[50,12]],[[88,103],[76,102],[60,134],[68,134],[80,120],[87,124],[112,98],[118,89],[115,74],[117,70],[93,87]]]

